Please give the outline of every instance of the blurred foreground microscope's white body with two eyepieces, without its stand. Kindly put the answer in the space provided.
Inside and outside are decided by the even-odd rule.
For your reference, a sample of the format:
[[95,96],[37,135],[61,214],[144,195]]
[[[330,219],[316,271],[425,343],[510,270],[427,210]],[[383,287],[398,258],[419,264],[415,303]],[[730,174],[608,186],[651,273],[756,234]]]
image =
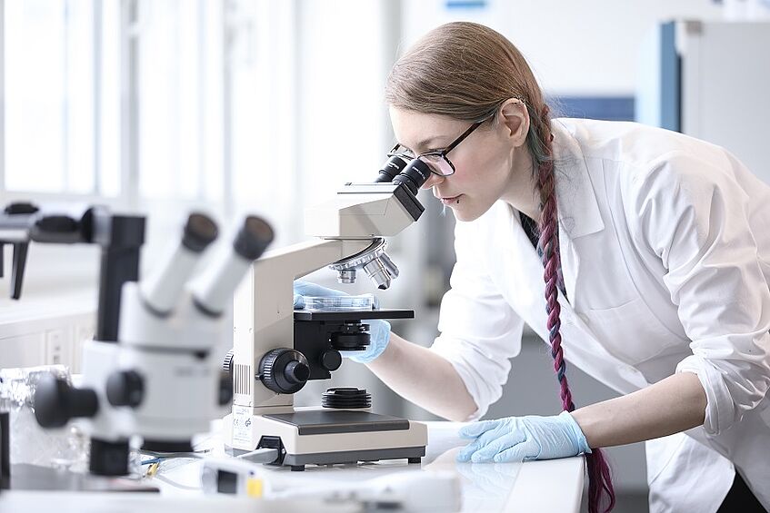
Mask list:
[[[141,435],[148,450],[192,450],[193,435],[207,432],[211,419],[221,416],[232,400],[232,385],[219,365],[226,350],[222,314],[256,255],[239,252],[236,239],[190,280],[216,236],[215,224],[205,216],[191,215],[188,227],[193,221],[198,224],[196,236],[185,233],[146,279],[123,286],[118,337],[122,350],[117,371],[106,381],[107,398],[113,406],[131,408],[121,429]],[[249,224],[264,237],[257,251],[261,254],[272,241],[272,230],[250,217],[239,237]]]

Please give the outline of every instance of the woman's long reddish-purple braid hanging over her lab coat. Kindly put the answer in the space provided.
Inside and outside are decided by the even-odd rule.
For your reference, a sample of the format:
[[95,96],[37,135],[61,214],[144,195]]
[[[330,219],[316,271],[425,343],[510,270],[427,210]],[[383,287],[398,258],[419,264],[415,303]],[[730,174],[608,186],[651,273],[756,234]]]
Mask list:
[[[534,120],[533,120],[534,121]],[[550,122],[548,116],[548,107],[545,106],[539,120],[541,126],[538,131],[533,131],[532,135],[540,139],[538,150],[542,159],[536,159],[537,164],[537,188],[540,192],[540,237],[538,240],[538,249],[541,252],[543,261],[544,279],[545,279],[545,312],[548,315],[547,329],[548,338],[551,344],[551,356],[554,357],[554,370],[556,378],[559,381],[559,397],[562,400],[562,406],[566,411],[574,411],[575,403],[572,400],[572,393],[569,390],[569,384],[566,379],[566,365],[564,351],[562,350],[561,336],[561,307],[559,306],[559,278],[561,274],[561,257],[559,252],[559,234],[558,234],[558,216],[555,194],[555,176],[553,160],[553,138],[550,131]],[[538,137],[539,135],[539,137]],[[606,495],[609,504],[605,512],[615,507],[615,490],[612,486],[610,469],[605,461],[601,449],[593,449],[591,454],[586,455],[588,467],[588,510],[590,513],[598,513],[600,504]]]

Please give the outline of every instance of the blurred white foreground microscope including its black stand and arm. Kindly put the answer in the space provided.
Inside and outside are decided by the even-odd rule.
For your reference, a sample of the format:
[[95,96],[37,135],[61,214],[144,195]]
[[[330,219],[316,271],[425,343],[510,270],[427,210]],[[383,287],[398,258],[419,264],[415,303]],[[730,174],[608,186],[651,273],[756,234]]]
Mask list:
[[38,423],[60,428],[77,419],[91,440],[89,470],[96,475],[128,473],[134,436],[146,450],[191,451],[192,437],[208,431],[232,400],[232,381],[215,354],[225,347],[223,313],[251,262],[272,242],[270,225],[246,217],[235,242],[191,280],[218,235],[215,222],[193,213],[181,241],[142,281],[144,217],[100,207],[79,219],[6,212],[4,227],[13,229],[9,241],[85,242],[102,249],[96,332],[85,343],[83,384],[75,388],[53,375],[40,380]]

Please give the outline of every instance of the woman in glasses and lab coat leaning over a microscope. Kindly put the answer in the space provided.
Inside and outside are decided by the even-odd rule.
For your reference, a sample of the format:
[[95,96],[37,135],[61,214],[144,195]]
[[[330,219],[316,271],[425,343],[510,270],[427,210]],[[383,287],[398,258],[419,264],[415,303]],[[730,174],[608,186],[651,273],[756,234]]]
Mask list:
[[[652,511],[770,508],[765,183],[679,133],[552,120],[524,57],[482,25],[425,35],[385,97],[395,153],[430,163],[425,187],[455,213],[457,261],[431,348],[379,321],[356,360],[405,399],[474,420],[526,322],[552,347],[565,412],[471,424],[458,459],[585,453],[598,511],[614,504],[599,448],[651,440]],[[565,357],[624,395],[575,409]]]

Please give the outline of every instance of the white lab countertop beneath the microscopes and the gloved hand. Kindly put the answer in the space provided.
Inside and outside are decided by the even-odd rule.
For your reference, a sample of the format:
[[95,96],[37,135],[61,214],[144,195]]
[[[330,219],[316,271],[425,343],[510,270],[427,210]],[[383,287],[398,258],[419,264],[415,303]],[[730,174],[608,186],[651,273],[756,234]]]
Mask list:
[[[426,422],[428,446],[422,465],[408,465],[405,460],[385,460],[359,465],[329,467],[308,466],[305,472],[288,468],[265,466],[266,480],[272,488],[287,489],[317,487],[329,488],[335,483],[351,483],[379,478],[402,472],[450,471],[460,477],[462,509],[465,513],[493,511],[558,511],[577,513],[583,493],[584,459],[575,457],[527,463],[457,463],[455,455],[466,441],[456,435],[462,424]],[[196,444],[212,448],[213,456],[222,452],[218,436]],[[166,463],[166,462],[165,462]],[[165,466],[165,469],[164,469]],[[324,504],[313,500],[259,501],[255,498],[206,496],[200,489],[200,459],[180,459],[162,464],[159,475],[163,478],[150,482],[161,488],[160,496],[140,493],[75,493],[75,492],[22,492],[0,493],[0,512],[35,511],[55,507],[57,513],[67,511],[206,511],[227,508],[228,513],[240,511],[358,511],[354,504]],[[415,474],[415,477],[418,477]],[[174,484],[172,484],[174,483]],[[181,485],[181,487],[180,487]],[[190,489],[193,488],[193,489]],[[348,506],[350,508],[348,508]]]

